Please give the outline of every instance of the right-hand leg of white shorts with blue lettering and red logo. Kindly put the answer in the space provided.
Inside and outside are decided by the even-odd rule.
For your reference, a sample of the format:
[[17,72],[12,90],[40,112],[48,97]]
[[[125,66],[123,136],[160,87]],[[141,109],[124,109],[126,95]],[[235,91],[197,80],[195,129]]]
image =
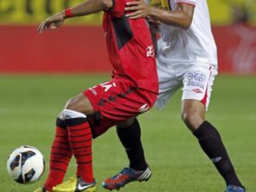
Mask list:
[[182,101],[194,99],[207,109],[216,74],[210,65],[191,65],[183,78]]

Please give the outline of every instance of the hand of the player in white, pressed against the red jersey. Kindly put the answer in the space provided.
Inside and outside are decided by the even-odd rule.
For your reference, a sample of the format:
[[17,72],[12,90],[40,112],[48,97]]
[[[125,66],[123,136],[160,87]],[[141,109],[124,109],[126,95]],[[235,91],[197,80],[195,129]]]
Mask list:
[[129,14],[126,14],[126,17],[129,17],[129,19],[138,19],[140,17],[148,17],[151,7],[143,0],[139,0],[127,2],[124,10],[130,12]]

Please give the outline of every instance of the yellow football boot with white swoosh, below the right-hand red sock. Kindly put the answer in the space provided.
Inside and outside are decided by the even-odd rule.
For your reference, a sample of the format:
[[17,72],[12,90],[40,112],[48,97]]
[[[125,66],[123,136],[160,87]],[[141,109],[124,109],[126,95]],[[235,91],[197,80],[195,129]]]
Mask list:
[[71,177],[67,182],[53,188],[53,192],[95,192],[96,182],[86,183],[80,177]]

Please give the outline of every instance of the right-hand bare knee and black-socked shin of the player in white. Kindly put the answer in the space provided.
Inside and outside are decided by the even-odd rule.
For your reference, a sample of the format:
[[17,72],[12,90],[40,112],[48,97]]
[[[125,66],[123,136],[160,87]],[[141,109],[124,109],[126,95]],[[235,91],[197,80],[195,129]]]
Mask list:
[[194,133],[201,148],[224,178],[226,185],[244,189],[229,159],[220,133],[211,123],[204,120],[205,107],[203,104],[193,99],[185,100],[182,102],[182,114],[187,127]]

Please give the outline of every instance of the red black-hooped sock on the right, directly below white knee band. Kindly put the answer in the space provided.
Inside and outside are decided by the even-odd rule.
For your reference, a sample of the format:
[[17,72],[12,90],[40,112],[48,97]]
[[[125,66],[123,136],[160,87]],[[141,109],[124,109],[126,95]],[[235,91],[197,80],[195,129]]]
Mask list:
[[69,143],[77,161],[77,176],[94,182],[92,166],[92,131],[86,118],[67,119]]

